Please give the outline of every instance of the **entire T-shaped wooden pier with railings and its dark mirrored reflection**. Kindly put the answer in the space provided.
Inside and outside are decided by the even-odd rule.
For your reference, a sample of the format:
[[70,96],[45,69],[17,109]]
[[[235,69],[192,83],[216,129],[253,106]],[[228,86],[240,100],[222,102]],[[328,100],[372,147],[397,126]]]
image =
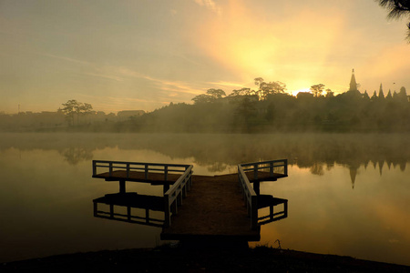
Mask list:
[[[164,240],[258,241],[262,224],[287,217],[286,199],[259,193],[260,182],[287,177],[286,159],[242,164],[237,174],[213,177],[192,175],[190,165],[95,160],[93,177],[119,182],[118,194],[93,200],[96,217],[162,227],[160,237]],[[164,196],[127,193],[126,181],[163,185]],[[100,203],[108,204],[109,211],[98,210]],[[274,212],[278,205],[282,210]],[[127,207],[127,213],[116,213],[115,206]],[[131,207],[145,208],[146,216],[132,216]],[[270,207],[268,215],[258,216],[262,207]],[[149,210],[163,211],[164,219],[149,217]]]

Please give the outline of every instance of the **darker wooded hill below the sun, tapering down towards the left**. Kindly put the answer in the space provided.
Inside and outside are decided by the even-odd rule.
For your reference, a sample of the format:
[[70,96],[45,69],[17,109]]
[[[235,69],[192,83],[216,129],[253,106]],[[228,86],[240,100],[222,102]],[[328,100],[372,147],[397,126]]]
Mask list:
[[372,96],[357,90],[335,96],[323,84],[297,96],[286,93],[282,82],[256,78],[257,88],[208,89],[194,96],[193,105],[169,104],[133,121],[118,124],[118,130],[166,132],[409,132],[410,103],[405,87],[383,87]]

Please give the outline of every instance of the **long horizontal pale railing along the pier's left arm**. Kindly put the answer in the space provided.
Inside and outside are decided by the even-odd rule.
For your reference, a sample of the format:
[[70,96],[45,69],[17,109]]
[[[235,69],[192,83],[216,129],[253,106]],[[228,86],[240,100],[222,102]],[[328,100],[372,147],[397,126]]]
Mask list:
[[144,172],[145,179],[149,179],[149,173],[164,174],[164,180],[168,180],[170,173],[184,173],[190,165],[182,164],[160,164],[160,163],[142,163],[142,162],[124,162],[124,161],[108,161],[108,160],[93,160],[93,176],[97,175],[97,170],[103,168],[112,177],[116,170],[127,171],[127,177],[132,171]]

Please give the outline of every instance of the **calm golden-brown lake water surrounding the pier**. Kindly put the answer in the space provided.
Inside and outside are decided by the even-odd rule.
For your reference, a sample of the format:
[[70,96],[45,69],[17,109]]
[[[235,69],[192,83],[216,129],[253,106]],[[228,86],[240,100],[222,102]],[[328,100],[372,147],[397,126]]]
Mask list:
[[[252,243],[410,265],[408,135],[1,134],[0,262],[163,243],[160,228],[93,217],[92,199],[118,183],[91,178],[91,160],[193,164],[195,174],[289,159],[289,177],[261,193],[289,216]],[[128,183],[160,195],[161,187]]]

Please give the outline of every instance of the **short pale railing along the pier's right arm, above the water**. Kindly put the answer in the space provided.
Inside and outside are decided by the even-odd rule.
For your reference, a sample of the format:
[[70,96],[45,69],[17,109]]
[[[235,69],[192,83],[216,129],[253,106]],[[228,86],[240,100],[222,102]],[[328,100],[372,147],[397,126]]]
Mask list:
[[253,172],[253,179],[258,179],[258,173],[269,172],[270,177],[275,175],[281,175],[282,177],[288,176],[288,159],[278,159],[271,161],[261,161],[240,164],[241,168],[245,172]]

